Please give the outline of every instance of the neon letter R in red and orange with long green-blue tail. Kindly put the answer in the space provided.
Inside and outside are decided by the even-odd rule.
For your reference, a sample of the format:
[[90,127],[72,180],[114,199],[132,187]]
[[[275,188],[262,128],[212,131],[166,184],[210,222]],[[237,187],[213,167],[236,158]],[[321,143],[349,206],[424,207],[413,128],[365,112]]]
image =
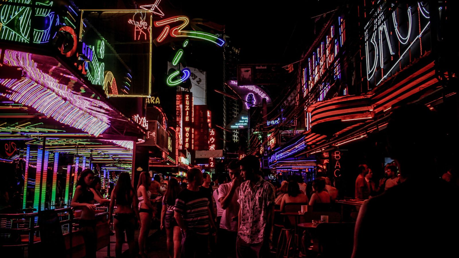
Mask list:
[[[174,22],[182,22],[182,24],[171,29],[168,24]],[[155,22],[155,27],[166,26],[162,30],[162,33],[160,33],[160,36],[157,38],[157,42],[162,42],[169,34],[171,37],[174,38],[187,37],[206,40],[215,43],[220,47],[223,46],[223,44],[225,44],[225,41],[223,39],[218,38],[217,36],[211,33],[183,30],[189,23],[190,19],[187,16],[174,16],[168,19]]]

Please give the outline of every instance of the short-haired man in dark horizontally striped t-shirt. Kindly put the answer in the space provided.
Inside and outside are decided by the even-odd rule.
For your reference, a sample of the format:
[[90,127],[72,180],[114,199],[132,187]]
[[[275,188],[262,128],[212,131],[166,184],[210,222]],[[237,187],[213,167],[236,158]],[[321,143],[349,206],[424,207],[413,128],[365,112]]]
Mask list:
[[175,201],[174,217],[182,231],[182,257],[207,257],[207,243],[210,228],[215,229],[209,209],[208,193],[200,189],[201,170],[192,168],[187,174],[188,186],[182,190]]

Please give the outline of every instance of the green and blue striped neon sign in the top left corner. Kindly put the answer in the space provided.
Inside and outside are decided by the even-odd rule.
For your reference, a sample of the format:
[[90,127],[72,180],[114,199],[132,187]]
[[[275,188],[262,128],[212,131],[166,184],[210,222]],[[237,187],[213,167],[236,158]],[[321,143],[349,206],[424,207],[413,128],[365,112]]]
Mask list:
[[[15,4],[31,4],[30,0],[14,0],[10,1]],[[53,2],[40,3],[51,7]],[[32,20],[32,8],[25,6],[8,5],[7,3],[0,7],[0,39],[6,39],[17,42],[29,42],[30,36],[30,22]],[[35,8],[35,19],[37,16],[42,18],[41,25],[47,25],[44,29],[34,29],[34,43],[47,43],[50,40],[50,29],[53,25],[54,18],[56,17],[56,25],[59,22],[59,17],[53,11],[45,8]],[[67,19],[68,20],[68,19]]]

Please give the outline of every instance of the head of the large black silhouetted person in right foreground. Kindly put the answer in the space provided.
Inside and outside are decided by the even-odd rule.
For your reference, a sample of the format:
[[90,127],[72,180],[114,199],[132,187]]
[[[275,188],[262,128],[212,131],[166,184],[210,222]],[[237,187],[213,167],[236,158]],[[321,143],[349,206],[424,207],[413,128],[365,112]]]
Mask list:
[[444,142],[441,129],[442,121],[425,105],[409,104],[393,109],[386,129],[387,151],[396,161],[403,180],[436,176],[432,173],[436,170],[435,158],[445,149],[441,148]]

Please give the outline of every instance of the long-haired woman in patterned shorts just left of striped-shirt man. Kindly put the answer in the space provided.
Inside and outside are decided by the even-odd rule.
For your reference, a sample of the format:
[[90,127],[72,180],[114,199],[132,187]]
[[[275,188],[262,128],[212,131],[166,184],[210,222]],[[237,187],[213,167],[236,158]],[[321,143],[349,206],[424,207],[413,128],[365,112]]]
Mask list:
[[166,194],[162,198],[161,210],[161,230],[166,228],[167,245],[169,258],[180,257],[180,243],[182,241],[182,232],[174,218],[174,205],[179,192],[182,191],[179,182],[171,178],[168,183]]

